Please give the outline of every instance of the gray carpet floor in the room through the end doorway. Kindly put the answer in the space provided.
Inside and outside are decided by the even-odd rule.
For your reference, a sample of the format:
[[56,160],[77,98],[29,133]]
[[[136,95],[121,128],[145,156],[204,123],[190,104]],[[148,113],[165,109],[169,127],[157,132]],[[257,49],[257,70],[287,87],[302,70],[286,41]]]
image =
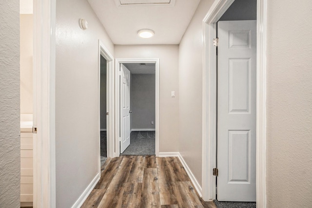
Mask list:
[[121,155],[155,155],[155,131],[131,132],[130,145]]

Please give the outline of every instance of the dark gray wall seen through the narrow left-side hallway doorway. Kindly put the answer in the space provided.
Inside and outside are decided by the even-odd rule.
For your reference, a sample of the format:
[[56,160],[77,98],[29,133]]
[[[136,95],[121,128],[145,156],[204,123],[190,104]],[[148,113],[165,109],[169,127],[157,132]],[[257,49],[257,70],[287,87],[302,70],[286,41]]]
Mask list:
[[106,129],[106,60],[101,56],[101,77],[100,77],[100,128]]

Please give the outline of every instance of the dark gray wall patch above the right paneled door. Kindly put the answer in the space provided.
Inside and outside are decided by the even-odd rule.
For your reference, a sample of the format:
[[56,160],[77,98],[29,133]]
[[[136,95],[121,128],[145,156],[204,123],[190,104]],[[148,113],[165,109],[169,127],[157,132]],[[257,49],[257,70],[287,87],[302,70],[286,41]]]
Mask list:
[[257,0],[235,0],[219,20],[255,19],[257,19]]

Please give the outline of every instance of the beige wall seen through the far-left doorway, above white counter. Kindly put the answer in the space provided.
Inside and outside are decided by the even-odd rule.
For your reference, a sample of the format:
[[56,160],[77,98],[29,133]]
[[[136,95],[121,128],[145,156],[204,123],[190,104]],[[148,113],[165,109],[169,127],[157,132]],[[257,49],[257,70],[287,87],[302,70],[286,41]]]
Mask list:
[[20,113],[33,113],[33,15],[20,15]]

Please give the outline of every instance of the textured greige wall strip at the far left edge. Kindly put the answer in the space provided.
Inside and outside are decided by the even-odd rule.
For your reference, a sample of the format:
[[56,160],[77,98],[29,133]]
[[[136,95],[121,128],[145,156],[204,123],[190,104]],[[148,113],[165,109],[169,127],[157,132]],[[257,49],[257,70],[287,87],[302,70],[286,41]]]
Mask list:
[[0,207],[20,207],[20,1],[0,1]]

